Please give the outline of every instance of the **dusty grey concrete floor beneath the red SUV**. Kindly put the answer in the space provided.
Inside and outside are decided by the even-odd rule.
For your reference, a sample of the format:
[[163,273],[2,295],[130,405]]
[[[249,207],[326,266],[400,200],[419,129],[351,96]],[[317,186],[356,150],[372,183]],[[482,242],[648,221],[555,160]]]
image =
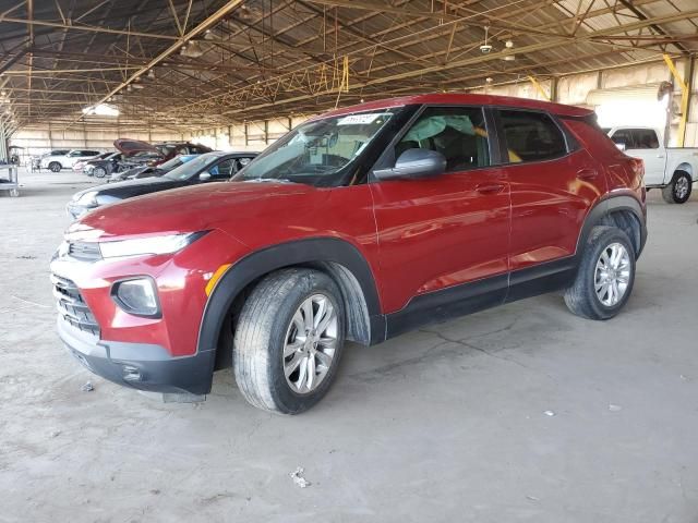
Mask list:
[[650,193],[617,318],[545,295],[352,345],[320,405],[279,417],[230,372],[192,405],[79,366],[48,260],[85,178],[21,178],[0,196],[0,522],[698,522],[698,196]]

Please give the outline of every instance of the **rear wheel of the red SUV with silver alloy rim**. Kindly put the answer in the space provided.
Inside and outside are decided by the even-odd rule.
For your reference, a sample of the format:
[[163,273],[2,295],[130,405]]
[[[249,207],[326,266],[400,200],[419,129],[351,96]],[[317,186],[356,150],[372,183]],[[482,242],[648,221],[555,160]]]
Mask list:
[[[617,246],[625,251],[627,258],[618,257],[618,265],[613,267],[611,264],[612,270],[609,273],[603,270],[604,264],[601,258],[604,253],[606,257],[611,253],[609,260],[611,262],[614,252],[622,253]],[[618,314],[633,292],[635,258],[635,247],[625,232],[615,227],[594,227],[585,245],[575,281],[565,291],[565,303],[569,311],[588,319],[610,319]],[[617,277],[614,278],[616,273]],[[615,281],[616,284],[606,287],[604,293],[604,277],[609,275],[610,282]],[[625,283],[623,283],[624,280]],[[625,288],[623,288],[624,284]],[[599,292],[597,292],[597,285],[599,285]],[[614,291],[622,291],[615,301],[611,294]]]

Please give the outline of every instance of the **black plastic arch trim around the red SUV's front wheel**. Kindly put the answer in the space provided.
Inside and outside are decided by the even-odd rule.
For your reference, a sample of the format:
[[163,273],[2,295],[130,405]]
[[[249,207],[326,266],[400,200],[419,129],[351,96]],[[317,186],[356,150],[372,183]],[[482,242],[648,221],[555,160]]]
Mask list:
[[202,352],[217,349],[220,329],[234,299],[254,280],[284,267],[323,262],[339,264],[354,276],[368,308],[371,338],[373,340],[384,337],[378,292],[364,256],[346,240],[311,238],[270,245],[233,263],[206,301],[198,330],[197,350]]

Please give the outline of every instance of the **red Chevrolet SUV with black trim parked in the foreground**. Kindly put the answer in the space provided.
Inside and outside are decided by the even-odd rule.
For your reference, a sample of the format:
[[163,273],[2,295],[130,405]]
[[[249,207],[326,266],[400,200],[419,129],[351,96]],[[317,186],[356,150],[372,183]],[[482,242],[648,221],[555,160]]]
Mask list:
[[101,207],[51,271],[60,337],[94,373],[205,394],[232,366],[250,403],[292,414],[346,340],[558,289],[611,318],[646,238],[642,163],[591,111],[424,95],[314,118],[231,182]]

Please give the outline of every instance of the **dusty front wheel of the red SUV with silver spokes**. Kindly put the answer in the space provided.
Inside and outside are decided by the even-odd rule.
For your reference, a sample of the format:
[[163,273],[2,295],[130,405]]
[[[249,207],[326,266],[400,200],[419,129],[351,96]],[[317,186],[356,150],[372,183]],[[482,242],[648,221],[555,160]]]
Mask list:
[[[321,314],[318,321],[328,319],[327,327],[316,337],[308,336],[308,331],[301,335],[303,327],[309,325],[304,305],[310,301],[316,313],[322,308],[322,300],[325,300],[325,315]],[[333,309],[327,308],[327,304]],[[273,272],[246,299],[236,326],[232,367],[238,387],[244,399],[258,409],[299,414],[317,403],[329,389],[339,366],[344,341],[344,303],[332,278],[317,270],[301,268]],[[298,349],[289,353],[288,350],[293,349],[291,345]],[[284,356],[285,349],[287,356]],[[320,353],[322,357],[317,355]],[[285,368],[294,368],[289,378]],[[303,386],[303,370],[306,378],[314,376],[312,384],[306,379]]]

